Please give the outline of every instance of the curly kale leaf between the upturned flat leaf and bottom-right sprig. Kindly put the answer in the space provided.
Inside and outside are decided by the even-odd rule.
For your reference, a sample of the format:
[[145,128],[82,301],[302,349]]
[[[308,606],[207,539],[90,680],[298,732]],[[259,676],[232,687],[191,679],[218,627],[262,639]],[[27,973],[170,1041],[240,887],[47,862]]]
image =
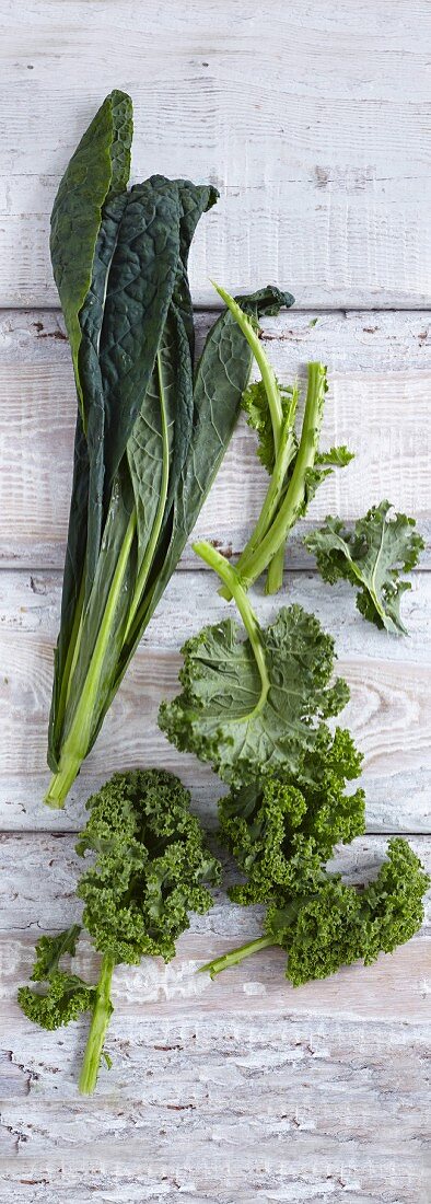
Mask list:
[[350,733],[324,730],[294,780],[281,771],[261,785],[232,790],[219,802],[222,838],[247,877],[230,897],[266,903],[283,892],[319,886],[335,844],[365,831],[365,793],[346,793],[361,768]]

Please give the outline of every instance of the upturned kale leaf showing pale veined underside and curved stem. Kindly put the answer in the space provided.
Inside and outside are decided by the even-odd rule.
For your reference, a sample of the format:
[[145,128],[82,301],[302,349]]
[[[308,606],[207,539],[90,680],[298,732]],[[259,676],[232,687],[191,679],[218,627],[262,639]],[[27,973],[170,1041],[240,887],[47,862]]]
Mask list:
[[295,775],[326,739],[323,721],[349,697],[346,681],[329,684],[333,639],[299,606],[284,607],[262,630],[235,569],[207,543],[194,550],[231,590],[248,638],[228,619],[187,641],[183,692],[161,704],[161,731],[234,786],[279,766]]

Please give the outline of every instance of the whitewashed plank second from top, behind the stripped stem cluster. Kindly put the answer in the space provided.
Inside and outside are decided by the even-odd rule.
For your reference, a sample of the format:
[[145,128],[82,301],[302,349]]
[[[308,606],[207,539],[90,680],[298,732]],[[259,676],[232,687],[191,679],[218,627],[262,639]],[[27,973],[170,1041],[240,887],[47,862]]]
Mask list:
[[[211,323],[200,318],[199,335]],[[301,532],[330,510],[355,519],[388,496],[415,514],[431,537],[431,334],[417,314],[284,313],[265,323],[282,380],[303,374],[309,359],[329,365],[323,442],[347,442],[355,460],[320,488],[290,563],[308,567]],[[4,314],[0,323],[0,560],[63,567],[75,427],[69,347],[58,313]],[[255,520],[267,478],[243,421],[236,431],[195,533],[238,551]],[[183,567],[194,562],[190,549]],[[430,562],[430,551],[423,563]]]

